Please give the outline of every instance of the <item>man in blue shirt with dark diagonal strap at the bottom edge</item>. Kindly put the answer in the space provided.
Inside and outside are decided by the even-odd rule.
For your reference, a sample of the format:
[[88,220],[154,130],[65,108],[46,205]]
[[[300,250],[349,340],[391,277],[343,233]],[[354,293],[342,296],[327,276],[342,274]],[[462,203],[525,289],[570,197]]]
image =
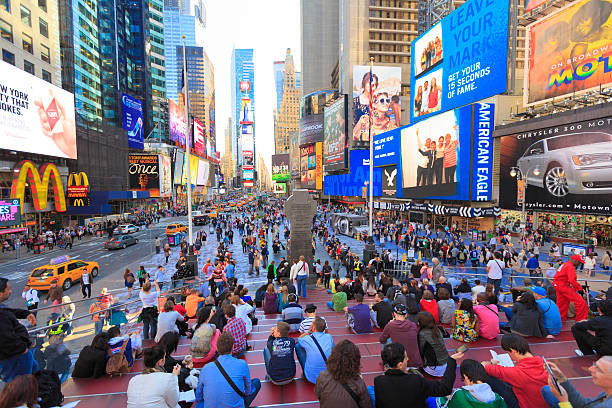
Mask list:
[[244,360],[232,357],[234,339],[230,333],[221,333],[217,339],[217,362],[231,381],[245,395],[239,395],[225,379],[217,362],[206,364],[200,372],[196,388],[196,408],[244,408],[251,405],[261,389],[261,381],[251,380],[249,366]]

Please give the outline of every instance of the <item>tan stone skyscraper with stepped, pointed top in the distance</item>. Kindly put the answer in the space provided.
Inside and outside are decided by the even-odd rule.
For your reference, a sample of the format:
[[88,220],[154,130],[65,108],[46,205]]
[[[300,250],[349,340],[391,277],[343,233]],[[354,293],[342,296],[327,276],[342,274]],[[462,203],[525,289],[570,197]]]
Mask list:
[[274,151],[289,151],[289,134],[300,126],[300,90],[296,86],[295,67],[291,50],[287,49],[284,62],[282,99],[274,116]]

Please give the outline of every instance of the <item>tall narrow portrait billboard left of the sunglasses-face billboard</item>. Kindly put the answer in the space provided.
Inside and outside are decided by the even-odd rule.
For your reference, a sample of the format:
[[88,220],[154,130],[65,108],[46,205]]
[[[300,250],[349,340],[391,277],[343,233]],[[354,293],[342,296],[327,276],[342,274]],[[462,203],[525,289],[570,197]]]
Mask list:
[[348,148],[346,99],[346,95],[342,95],[323,112],[323,164],[326,171],[346,168]]

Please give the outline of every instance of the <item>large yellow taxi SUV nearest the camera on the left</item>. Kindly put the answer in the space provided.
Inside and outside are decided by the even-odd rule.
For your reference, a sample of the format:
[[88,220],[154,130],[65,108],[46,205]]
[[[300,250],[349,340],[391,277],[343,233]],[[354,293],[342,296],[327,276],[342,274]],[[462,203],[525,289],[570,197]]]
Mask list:
[[98,276],[100,265],[97,262],[86,262],[70,259],[68,255],[51,259],[47,265],[35,268],[28,278],[28,286],[37,290],[48,290],[53,280],[57,285],[68,290],[72,284],[81,280],[85,272],[92,277]]

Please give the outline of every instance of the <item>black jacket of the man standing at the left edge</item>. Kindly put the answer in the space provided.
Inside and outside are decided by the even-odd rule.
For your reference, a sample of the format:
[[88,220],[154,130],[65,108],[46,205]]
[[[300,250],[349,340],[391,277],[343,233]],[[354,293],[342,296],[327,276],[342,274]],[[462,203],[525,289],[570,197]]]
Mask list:
[[30,313],[0,303],[0,361],[23,354],[30,347],[28,330],[17,321],[25,319]]

